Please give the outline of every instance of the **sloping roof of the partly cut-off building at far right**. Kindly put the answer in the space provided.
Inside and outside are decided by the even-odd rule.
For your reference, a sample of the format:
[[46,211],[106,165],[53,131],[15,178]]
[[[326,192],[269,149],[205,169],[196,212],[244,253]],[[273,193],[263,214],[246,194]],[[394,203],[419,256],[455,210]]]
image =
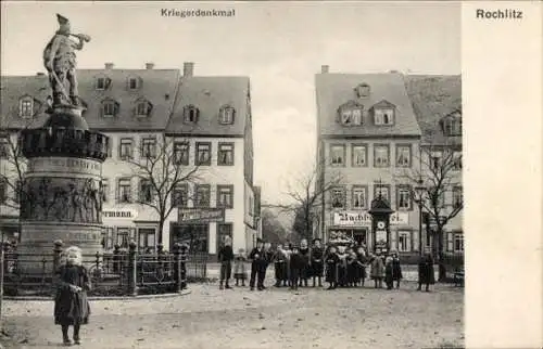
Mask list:
[[462,76],[407,75],[405,88],[422,131],[424,143],[462,143],[462,137],[445,137],[439,125],[440,119],[454,113],[462,116]]

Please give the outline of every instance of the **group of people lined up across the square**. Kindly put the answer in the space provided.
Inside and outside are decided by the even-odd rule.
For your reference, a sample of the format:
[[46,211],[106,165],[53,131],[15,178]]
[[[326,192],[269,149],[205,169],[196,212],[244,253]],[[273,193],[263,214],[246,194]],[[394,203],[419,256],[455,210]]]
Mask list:
[[[319,238],[313,241],[310,247],[306,240],[302,240],[300,246],[293,244],[279,244],[274,250],[270,243],[262,240],[256,242],[248,256],[243,249],[237,254],[231,247],[231,240],[227,237],[224,246],[218,251],[220,262],[219,288],[232,288],[229,285],[231,270],[233,267],[233,280],[236,286],[245,286],[248,273],[247,262],[251,262],[249,287],[251,290],[263,290],[264,280],[268,267],[275,267],[275,287],[308,287],[310,280],[312,287],[323,287],[323,276],[329,284],[328,289],[338,287],[358,287],[365,285],[368,277],[366,268],[369,267],[369,279],[374,281],[375,288],[382,288],[383,281],[387,289],[400,287],[403,279],[402,266],[399,254],[395,250],[388,255],[377,250],[376,254],[366,254],[366,248],[362,246],[329,246],[326,250]],[[419,266],[419,287],[433,284],[433,260],[430,254],[421,258]]]

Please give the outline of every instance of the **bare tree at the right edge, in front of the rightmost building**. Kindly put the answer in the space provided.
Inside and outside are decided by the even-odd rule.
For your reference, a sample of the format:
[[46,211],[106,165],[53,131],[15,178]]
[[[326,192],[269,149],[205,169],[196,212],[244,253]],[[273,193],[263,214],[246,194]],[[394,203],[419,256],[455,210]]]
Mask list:
[[[407,182],[412,198],[417,202],[421,209],[429,215],[434,227],[431,233],[437,237],[438,261],[440,264],[439,280],[445,277],[443,229],[464,208],[462,194],[453,205],[445,204],[445,195],[462,188],[460,145],[454,142],[441,144],[421,144],[420,154],[414,156],[419,168],[405,170],[400,177]],[[462,193],[462,192],[460,192]],[[427,232],[430,230],[427,229]],[[433,238],[435,242],[435,238]]]

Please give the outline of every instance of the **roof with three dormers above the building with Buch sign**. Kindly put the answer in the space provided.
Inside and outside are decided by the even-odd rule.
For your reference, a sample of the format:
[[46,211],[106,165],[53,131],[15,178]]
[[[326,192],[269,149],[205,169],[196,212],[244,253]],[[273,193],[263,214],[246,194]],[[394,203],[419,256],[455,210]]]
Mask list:
[[[368,98],[356,98],[354,89],[367,83],[370,88]],[[317,93],[318,132],[320,135],[345,137],[419,137],[415,113],[405,90],[403,76],[396,73],[383,74],[317,74],[315,78]],[[369,109],[375,104],[386,101],[396,107],[394,126],[375,126],[365,119],[363,126],[344,127],[337,122],[338,107],[349,100],[356,100]]]

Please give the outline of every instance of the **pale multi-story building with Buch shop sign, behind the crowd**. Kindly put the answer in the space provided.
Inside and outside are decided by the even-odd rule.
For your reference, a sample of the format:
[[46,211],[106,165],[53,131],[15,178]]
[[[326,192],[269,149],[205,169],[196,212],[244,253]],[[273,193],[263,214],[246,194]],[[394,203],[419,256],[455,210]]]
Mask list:
[[330,74],[323,66],[316,75],[318,185],[334,184],[326,192],[317,219],[316,233],[325,241],[346,235],[371,249],[368,209],[379,194],[394,210],[392,249],[418,255],[419,241],[430,236],[426,222],[419,229],[413,197],[416,183],[411,178],[424,171],[419,159],[426,143],[407,86],[395,72]]

